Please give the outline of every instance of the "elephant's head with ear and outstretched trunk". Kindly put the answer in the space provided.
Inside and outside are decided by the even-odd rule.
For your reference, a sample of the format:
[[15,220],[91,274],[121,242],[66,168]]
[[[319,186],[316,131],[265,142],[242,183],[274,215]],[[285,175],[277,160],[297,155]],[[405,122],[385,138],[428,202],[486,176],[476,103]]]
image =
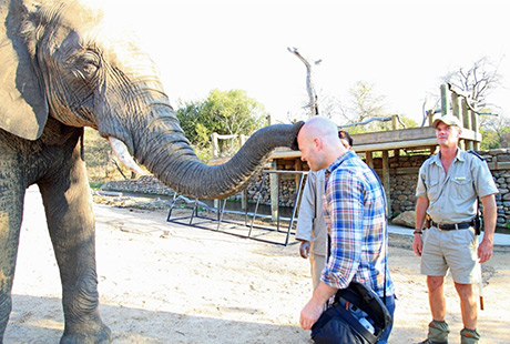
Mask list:
[[35,140],[48,117],[95,128],[122,141],[176,192],[204,199],[237,193],[275,148],[297,149],[300,123],[271,125],[252,135],[230,162],[204,164],[180,128],[151,59],[130,42],[113,42],[100,30],[101,16],[80,7],[62,1],[2,4],[3,130]]

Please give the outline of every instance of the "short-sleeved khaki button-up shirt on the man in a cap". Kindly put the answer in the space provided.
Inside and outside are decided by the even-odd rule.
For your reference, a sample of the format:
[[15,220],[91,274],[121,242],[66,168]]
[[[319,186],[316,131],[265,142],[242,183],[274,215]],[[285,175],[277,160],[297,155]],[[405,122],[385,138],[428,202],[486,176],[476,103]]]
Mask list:
[[439,154],[427,159],[420,168],[417,198],[427,198],[427,213],[437,223],[460,223],[477,215],[477,195],[498,193],[487,163],[479,156],[458,149],[445,173]]

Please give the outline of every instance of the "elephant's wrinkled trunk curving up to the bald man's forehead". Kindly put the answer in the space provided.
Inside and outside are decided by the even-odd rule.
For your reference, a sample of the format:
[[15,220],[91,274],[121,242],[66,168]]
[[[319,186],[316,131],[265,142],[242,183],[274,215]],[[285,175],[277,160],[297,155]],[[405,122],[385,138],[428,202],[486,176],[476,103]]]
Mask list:
[[207,165],[195,154],[174,114],[147,123],[134,144],[134,156],[159,180],[180,194],[223,199],[238,193],[263,169],[274,149],[297,150],[303,122],[274,124],[256,131],[227,162]]

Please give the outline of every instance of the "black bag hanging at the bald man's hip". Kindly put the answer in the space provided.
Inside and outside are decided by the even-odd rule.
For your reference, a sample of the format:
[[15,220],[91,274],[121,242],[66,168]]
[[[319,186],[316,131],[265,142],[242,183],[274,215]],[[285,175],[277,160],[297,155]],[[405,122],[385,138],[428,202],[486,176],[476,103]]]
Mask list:
[[[374,332],[367,330],[346,304],[365,312]],[[312,340],[316,344],[375,344],[391,321],[386,305],[371,289],[350,282],[347,289],[336,293],[333,305],[312,326]]]

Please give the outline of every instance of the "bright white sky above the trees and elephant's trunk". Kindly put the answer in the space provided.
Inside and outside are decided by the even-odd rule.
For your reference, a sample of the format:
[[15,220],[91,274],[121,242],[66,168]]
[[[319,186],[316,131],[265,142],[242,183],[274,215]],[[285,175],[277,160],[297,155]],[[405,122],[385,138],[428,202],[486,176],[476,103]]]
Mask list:
[[[510,20],[506,1],[103,0],[141,38],[174,108],[213,89],[245,90],[273,121],[306,103],[306,69],[320,94],[348,101],[358,81],[388,113],[418,123],[440,77],[487,57],[503,77],[489,100],[510,115]],[[320,105],[320,99],[319,99]]]

